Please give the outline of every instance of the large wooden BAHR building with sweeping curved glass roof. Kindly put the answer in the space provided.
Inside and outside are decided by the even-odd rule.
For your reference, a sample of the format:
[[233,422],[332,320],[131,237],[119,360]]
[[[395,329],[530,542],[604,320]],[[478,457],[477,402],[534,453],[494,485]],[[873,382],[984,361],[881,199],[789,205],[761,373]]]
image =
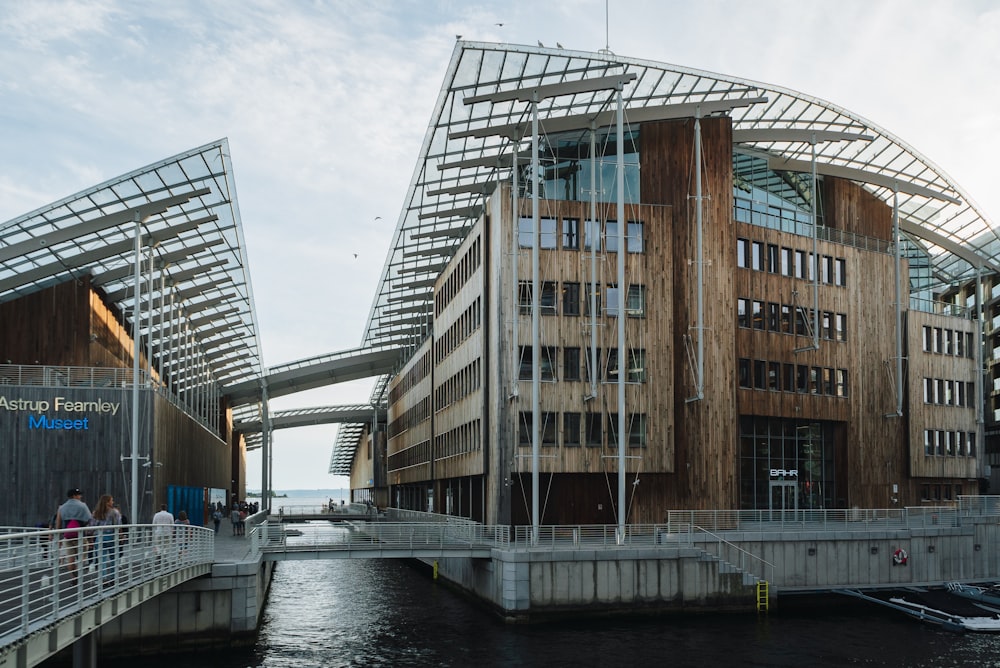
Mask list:
[[460,41],[363,340],[406,351],[384,433],[331,471],[515,524],[955,500],[996,450],[998,268],[969,194],[857,113]]

